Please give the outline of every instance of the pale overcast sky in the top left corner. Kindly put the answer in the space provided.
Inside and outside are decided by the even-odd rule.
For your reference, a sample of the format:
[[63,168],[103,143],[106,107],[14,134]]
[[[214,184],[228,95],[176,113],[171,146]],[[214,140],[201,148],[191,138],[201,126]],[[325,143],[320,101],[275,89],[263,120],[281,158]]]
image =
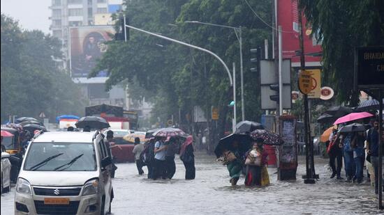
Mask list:
[[22,29],[50,33],[51,0],[1,0],[1,13],[19,20]]

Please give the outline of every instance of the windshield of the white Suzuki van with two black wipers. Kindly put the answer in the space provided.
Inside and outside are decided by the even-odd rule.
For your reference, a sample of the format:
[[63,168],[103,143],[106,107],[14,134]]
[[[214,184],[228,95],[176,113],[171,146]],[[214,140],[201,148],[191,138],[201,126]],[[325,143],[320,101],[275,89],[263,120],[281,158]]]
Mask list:
[[32,143],[24,170],[95,171],[96,154],[93,143]]

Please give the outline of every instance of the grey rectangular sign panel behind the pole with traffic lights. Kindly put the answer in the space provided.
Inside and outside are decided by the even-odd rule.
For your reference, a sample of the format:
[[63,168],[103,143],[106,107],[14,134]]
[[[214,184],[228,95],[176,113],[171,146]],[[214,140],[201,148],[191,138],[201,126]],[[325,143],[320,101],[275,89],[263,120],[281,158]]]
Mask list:
[[[290,59],[283,59],[281,69],[283,81],[283,109],[290,109],[292,100],[290,99]],[[278,84],[279,79],[276,75],[274,60],[260,61],[260,93],[261,93],[261,109],[276,109],[276,102],[270,99],[271,95],[278,95],[279,92],[271,90],[271,84]]]

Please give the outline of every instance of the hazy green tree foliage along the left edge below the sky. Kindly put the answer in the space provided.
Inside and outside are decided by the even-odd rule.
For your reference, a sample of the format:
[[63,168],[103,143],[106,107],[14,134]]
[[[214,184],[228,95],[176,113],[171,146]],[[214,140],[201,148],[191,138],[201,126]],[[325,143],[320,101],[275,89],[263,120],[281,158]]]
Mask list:
[[51,120],[59,114],[82,115],[80,89],[54,59],[62,58],[61,43],[41,31],[23,31],[1,14],[1,120],[9,115]]

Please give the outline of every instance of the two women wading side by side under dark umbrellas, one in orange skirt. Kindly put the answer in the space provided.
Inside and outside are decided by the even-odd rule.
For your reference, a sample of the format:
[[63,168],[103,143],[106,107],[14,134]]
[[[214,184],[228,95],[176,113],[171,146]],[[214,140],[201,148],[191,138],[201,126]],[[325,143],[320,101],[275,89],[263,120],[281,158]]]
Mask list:
[[229,149],[223,150],[223,164],[228,168],[230,184],[235,186],[240,175],[245,175],[246,186],[267,186],[269,175],[267,170],[268,154],[263,148],[263,138],[257,138],[252,148],[245,154],[239,150],[239,142],[233,141]]

